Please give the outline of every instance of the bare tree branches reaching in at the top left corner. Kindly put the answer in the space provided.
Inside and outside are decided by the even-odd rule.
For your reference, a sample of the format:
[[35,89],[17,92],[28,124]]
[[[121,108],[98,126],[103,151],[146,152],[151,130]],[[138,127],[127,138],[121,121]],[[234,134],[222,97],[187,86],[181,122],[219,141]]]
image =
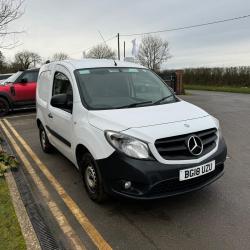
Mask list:
[[21,33],[22,31],[8,30],[9,24],[19,19],[23,15],[22,6],[24,0],[0,0],[0,47],[13,48],[18,42],[5,43],[5,39],[10,35]]

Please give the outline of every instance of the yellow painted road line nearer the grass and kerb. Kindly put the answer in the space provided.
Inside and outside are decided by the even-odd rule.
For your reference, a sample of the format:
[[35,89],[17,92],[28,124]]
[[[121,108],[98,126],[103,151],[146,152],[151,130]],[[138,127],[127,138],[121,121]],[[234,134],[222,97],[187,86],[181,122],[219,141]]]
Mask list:
[[3,124],[2,121],[0,121],[0,125],[1,125],[1,127],[3,129],[3,131],[5,132],[7,138],[10,140],[10,142],[11,142],[12,146],[14,147],[15,151],[17,152],[19,158],[23,162],[24,167],[26,168],[26,170],[28,171],[28,173],[32,177],[34,183],[36,184],[38,190],[42,194],[44,200],[46,201],[46,203],[47,203],[47,205],[49,207],[50,212],[55,217],[59,227],[61,228],[63,233],[66,235],[66,237],[68,237],[69,241],[71,242],[72,247],[74,247],[74,249],[77,249],[77,250],[78,249],[79,250],[86,249],[84,247],[84,245],[82,244],[82,242],[80,241],[80,239],[78,238],[78,236],[76,235],[73,228],[70,226],[70,224],[69,224],[68,220],[66,219],[66,217],[63,215],[62,211],[59,209],[57,204],[53,201],[52,197],[49,194],[48,189],[45,187],[45,185],[43,184],[40,177],[36,174],[34,168],[32,167],[32,165],[30,163],[30,161],[26,158],[26,156],[24,155],[24,153],[22,152],[22,150],[20,149],[20,147],[16,143],[15,139],[12,137],[12,135],[7,130],[7,128],[5,127],[5,125]]

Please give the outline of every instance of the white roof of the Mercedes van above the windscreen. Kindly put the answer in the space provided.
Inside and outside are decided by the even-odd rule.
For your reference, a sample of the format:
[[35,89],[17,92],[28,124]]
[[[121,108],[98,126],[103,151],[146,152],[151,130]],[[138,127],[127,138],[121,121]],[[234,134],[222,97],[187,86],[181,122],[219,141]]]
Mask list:
[[[133,68],[145,68],[142,65],[123,62],[115,60],[117,67],[133,67]],[[106,68],[116,67],[114,60],[110,59],[82,59],[82,60],[63,60],[58,62],[52,62],[51,64],[61,64],[65,66],[71,66],[73,69],[84,69],[84,68]]]

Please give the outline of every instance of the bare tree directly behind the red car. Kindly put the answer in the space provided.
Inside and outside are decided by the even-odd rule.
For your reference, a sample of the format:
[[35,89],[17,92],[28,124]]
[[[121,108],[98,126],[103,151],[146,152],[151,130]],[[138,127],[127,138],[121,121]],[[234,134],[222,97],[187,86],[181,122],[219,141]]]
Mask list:
[[22,69],[28,69],[31,66],[36,67],[38,63],[41,63],[42,58],[35,52],[22,51],[15,55],[15,63]]

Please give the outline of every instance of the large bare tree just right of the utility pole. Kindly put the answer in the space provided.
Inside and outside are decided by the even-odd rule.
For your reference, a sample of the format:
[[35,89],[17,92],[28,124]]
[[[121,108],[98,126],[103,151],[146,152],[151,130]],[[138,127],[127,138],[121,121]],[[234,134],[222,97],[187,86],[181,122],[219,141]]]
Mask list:
[[159,71],[163,62],[171,58],[169,45],[158,36],[145,36],[139,48],[138,59],[142,65]]

